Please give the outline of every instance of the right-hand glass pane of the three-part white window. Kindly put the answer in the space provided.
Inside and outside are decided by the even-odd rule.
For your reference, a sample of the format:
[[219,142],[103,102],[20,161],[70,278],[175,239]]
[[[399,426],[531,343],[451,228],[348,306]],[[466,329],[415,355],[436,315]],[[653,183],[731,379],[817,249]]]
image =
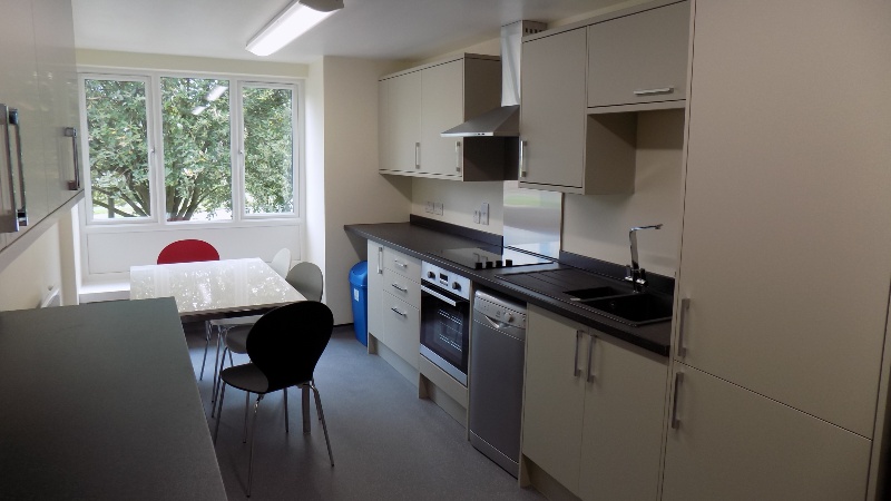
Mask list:
[[245,87],[244,212],[294,213],[292,89]]

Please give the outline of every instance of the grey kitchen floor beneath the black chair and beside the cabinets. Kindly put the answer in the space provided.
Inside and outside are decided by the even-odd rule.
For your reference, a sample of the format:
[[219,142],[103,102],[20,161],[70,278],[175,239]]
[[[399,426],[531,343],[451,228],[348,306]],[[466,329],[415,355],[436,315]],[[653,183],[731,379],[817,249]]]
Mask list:
[[[197,327],[197,328],[196,328]],[[204,354],[199,325],[186,326],[197,375]],[[213,343],[208,364],[213,360]],[[245,362],[246,357],[241,358]],[[236,356],[235,363],[239,363]],[[212,367],[198,381],[208,425]],[[321,423],[303,434],[300,392],[288,393],[291,432],[285,434],[281,392],[260,406],[253,500],[541,500],[479,453],[464,428],[386,362],[369,355],[352,326],[335,327],[315,371],[334,452],[329,464]],[[245,499],[248,443],[242,443],[244,393],[226,392],[216,445],[229,499]],[[253,400],[252,400],[253,405]]]

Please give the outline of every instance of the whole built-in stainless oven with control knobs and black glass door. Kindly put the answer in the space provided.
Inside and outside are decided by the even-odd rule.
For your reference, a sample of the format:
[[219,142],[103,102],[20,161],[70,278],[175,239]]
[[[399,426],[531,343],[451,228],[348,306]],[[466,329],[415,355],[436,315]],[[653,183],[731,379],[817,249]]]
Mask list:
[[467,386],[470,352],[469,278],[421,263],[421,355]]

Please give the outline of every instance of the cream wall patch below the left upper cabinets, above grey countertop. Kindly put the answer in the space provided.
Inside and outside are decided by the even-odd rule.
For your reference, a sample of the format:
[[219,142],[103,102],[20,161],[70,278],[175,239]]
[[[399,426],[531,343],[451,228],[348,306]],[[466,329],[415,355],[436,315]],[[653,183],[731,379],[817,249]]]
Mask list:
[[60,261],[56,224],[0,271],[0,311],[37,307],[49,289],[61,289]]

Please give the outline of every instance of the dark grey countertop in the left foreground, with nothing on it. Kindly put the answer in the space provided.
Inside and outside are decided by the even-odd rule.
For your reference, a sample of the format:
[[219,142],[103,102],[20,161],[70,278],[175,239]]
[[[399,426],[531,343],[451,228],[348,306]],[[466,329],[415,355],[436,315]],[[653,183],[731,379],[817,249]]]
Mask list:
[[0,312],[0,498],[224,500],[173,298]]

